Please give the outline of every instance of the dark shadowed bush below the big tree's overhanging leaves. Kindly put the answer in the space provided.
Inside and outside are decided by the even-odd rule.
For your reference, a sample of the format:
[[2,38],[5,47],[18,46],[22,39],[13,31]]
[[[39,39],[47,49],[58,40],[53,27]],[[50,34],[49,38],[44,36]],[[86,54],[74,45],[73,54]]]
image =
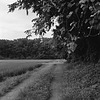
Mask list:
[[73,61],[97,63],[100,59],[100,36],[84,37],[76,41],[77,47],[71,55]]

